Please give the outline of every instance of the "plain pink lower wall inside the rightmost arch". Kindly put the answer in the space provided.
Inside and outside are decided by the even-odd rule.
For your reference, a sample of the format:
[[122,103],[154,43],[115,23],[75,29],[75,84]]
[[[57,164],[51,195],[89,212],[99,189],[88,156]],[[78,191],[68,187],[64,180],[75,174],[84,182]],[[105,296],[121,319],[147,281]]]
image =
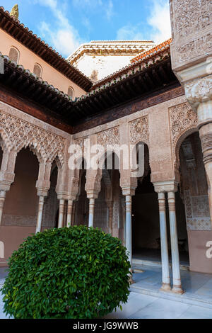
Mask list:
[[206,257],[206,243],[212,241],[212,231],[188,230],[190,270],[212,273],[212,258]]

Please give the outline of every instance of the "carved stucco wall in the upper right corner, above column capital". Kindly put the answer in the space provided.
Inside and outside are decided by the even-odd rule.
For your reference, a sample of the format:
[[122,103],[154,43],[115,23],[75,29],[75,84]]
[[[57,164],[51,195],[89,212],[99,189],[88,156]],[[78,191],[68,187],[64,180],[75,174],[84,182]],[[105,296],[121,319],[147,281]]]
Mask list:
[[211,11],[210,0],[170,0],[173,69],[211,55]]

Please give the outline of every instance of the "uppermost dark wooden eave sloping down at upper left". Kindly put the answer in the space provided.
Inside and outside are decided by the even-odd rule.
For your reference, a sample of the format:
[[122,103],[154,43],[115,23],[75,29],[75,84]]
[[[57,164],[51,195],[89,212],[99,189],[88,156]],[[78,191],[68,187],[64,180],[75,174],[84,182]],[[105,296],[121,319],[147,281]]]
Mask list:
[[0,7],[0,28],[13,38],[22,43],[29,50],[45,60],[57,71],[64,74],[68,79],[76,83],[83,90],[89,91],[92,82],[86,75],[81,73],[76,67],[69,64],[64,57],[61,57],[58,52],[49,47],[43,40],[33,34],[23,24],[20,24],[17,18],[10,15],[8,11],[4,11],[4,7]]

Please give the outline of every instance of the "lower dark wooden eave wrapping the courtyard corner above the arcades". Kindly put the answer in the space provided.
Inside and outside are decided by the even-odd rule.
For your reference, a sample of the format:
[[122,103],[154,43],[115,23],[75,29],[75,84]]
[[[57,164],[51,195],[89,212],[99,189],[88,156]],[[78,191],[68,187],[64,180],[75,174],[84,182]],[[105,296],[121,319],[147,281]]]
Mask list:
[[[135,101],[148,101],[153,96],[159,96],[155,101],[161,103],[163,98],[161,99],[160,95],[163,91],[180,86],[172,72],[170,55],[166,54],[163,58],[149,62],[144,67],[130,69],[130,73],[128,71],[124,76],[108,81],[105,85],[90,91],[86,96],[71,101],[69,96],[46,81],[37,79],[35,74],[17,65],[16,62],[11,62],[8,57],[4,56],[3,59],[4,74],[0,75],[1,86],[8,89],[10,94],[13,92],[22,100],[34,103],[40,110],[39,113],[30,114],[40,118],[43,113],[44,120],[45,115],[49,115],[55,126],[67,132],[86,130],[97,123],[100,124],[101,121],[107,122],[114,118],[121,118],[126,115],[125,111],[117,112],[117,115],[115,113],[117,109],[124,108],[126,103],[129,108],[130,103],[133,106]],[[150,104],[146,105],[150,106]],[[134,112],[136,111],[134,108]],[[132,111],[129,109],[127,112]],[[106,113],[107,117],[103,119]],[[98,121],[93,121],[94,118],[98,118]]]

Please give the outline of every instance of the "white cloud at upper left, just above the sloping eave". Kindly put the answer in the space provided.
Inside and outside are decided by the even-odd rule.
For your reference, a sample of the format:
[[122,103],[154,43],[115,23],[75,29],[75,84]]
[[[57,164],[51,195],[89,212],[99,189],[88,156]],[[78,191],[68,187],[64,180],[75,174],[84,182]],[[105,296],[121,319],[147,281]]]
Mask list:
[[43,38],[51,41],[52,47],[57,52],[64,56],[69,56],[79,45],[84,43],[78,31],[69,23],[64,11],[60,10],[61,1],[58,4],[57,0],[35,0],[35,3],[49,7],[54,14],[56,24],[50,26],[49,23],[42,21],[40,23],[40,31]]

